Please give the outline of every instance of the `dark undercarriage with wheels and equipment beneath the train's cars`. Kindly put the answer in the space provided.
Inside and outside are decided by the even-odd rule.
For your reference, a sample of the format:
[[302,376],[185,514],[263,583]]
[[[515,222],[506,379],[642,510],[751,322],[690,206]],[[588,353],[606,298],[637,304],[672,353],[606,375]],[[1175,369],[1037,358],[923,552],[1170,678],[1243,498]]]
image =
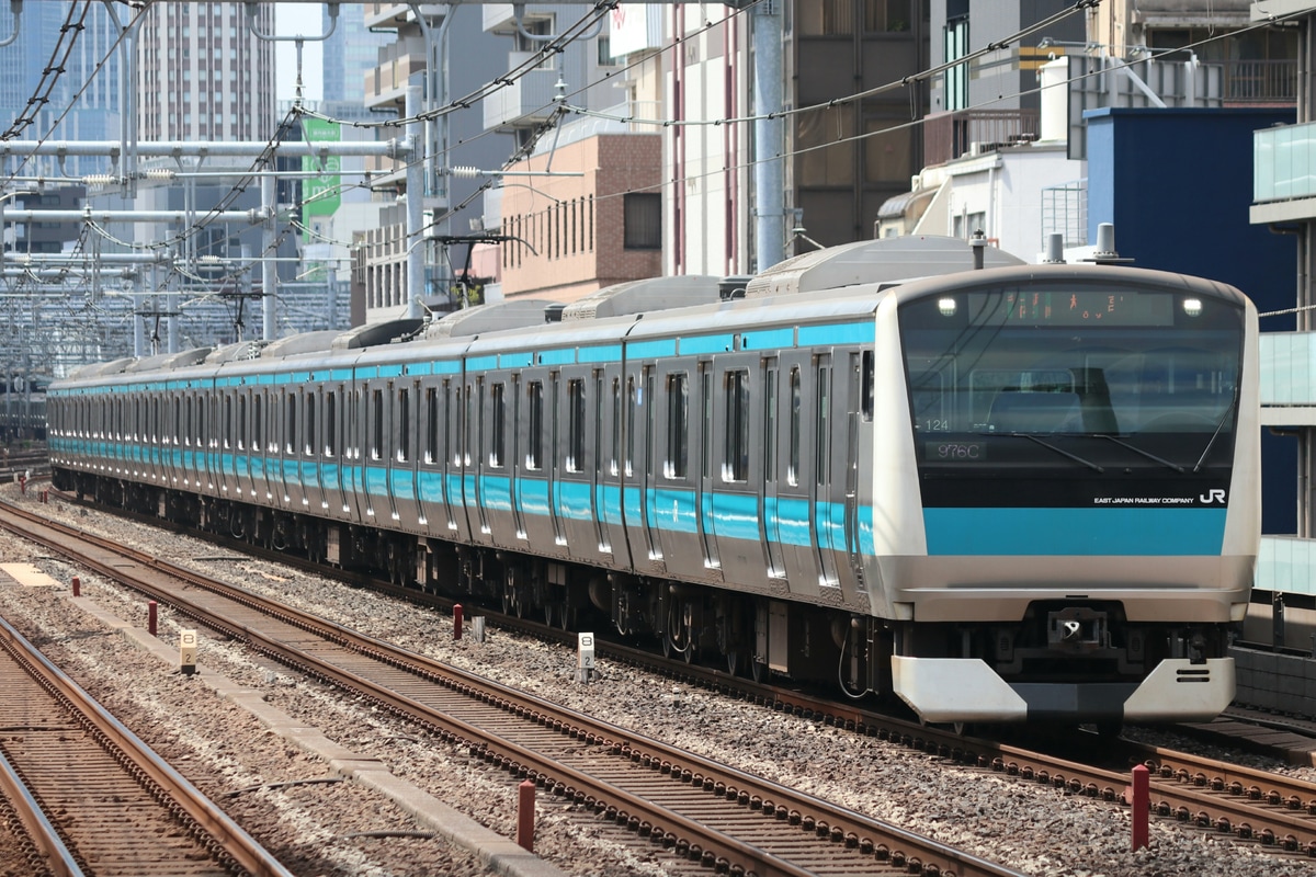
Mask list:
[[1000,686],[1000,697],[1021,693],[1016,699],[1026,703],[995,721],[1117,726],[1125,698],[1162,661],[1180,676],[1191,675],[1192,668],[1219,664],[1228,648],[1227,626],[1130,625],[1119,604],[1037,602],[1009,625],[913,625],[89,473],[57,469],[55,486],[100,505],[384,576],[399,586],[463,601],[468,611],[486,606],[563,630],[607,625],[667,656],[755,680],[838,685],[851,697],[900,694],[916,709],[901,686],[954,689],[928,696],[940,703],[928,710],[933,717],[938,710],[954,713],[955,701],[971,697],[974,688]]

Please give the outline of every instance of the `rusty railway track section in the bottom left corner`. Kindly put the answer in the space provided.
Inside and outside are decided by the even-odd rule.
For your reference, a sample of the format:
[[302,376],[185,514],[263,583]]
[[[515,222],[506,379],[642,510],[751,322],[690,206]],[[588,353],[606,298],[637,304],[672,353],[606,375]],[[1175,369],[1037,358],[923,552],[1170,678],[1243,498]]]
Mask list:
[[3,619],[0,688],[0,789],[32,873],[290,877]]

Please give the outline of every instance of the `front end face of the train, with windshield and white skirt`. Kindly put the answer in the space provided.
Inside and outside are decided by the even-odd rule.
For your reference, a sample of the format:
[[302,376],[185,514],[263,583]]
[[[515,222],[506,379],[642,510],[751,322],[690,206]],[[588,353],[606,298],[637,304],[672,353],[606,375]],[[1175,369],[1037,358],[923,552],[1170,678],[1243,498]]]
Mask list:
[[1228,706],[1259,540],[1246,297],[1034,266],[909,284],[878,325],[894,690],[930,722]]

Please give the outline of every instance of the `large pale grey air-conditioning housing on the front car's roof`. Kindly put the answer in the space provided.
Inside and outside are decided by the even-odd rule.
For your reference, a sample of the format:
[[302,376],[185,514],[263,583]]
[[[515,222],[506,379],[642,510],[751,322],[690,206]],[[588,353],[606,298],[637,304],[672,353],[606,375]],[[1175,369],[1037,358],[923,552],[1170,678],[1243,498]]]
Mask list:
[[[998,247],[984,246],[983,267],[1028,264]],[[821,292],[874,283],[901,283],[974,267],[974,249],[959,238],[919,235],[858,241],[804,252],[755,275],[745,297]]]

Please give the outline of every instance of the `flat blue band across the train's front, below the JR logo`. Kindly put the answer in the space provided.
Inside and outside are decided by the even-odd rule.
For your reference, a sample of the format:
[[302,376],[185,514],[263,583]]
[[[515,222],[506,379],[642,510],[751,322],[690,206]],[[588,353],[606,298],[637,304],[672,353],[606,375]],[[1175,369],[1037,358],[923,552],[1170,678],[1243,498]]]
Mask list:
[[929,555],[1205,556],[1225,509],[924,509]]

